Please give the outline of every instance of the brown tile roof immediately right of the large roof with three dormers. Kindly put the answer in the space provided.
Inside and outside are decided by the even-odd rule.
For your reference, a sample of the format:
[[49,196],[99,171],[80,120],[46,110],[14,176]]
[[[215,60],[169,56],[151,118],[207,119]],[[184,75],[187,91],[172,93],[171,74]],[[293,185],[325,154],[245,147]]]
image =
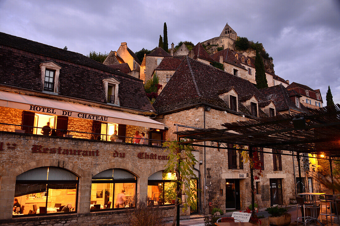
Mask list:
[[295,105],[295,103],[289,98],[288,90],[282,84],[263,88],[260,89],[260,91],[268,99],[273,100],[277,111],[285,111],[288,109],[294,109],[302,112],[308,111],[302,104],[300,104],[300,107]]

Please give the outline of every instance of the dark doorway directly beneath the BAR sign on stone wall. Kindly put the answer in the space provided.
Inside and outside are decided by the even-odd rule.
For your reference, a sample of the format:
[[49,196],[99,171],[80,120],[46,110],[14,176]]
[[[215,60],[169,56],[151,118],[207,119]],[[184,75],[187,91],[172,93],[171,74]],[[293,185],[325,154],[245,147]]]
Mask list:
[[225,208],[241,209],[239,179],[225,179]]

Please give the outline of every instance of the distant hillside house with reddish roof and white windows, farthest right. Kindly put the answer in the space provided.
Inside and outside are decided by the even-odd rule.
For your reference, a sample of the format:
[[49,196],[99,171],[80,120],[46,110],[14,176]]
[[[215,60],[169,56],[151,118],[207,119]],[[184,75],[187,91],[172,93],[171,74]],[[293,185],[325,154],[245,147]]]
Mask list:
[[294,90],[301,95],[300,102],[307,108],[318,109],[322,107],[323,101],[320,89],[312,89],[306,85],[292,82],[287,87],[288,90]]

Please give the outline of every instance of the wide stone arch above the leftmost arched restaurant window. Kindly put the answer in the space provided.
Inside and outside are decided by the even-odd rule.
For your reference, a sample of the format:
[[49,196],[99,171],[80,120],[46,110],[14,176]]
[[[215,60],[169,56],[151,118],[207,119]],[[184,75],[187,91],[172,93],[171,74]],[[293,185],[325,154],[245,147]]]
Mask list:
[[73,164],[72,162],[68,162],[65,160],[60,159],[39,159],[34,160],[22,165],[19,165],[18,167],[15,167],[12,170],[8,170],[7,176],[18,176],[23,172],[26,172],[31,169],[39,168],[39,167],[47,167],[47,166],[54,166],[54,167],[60,167],[67,169],[71,171],[72,173],[76,174],[78,177],[86,177],[86,171],[81,169],[79,166]]

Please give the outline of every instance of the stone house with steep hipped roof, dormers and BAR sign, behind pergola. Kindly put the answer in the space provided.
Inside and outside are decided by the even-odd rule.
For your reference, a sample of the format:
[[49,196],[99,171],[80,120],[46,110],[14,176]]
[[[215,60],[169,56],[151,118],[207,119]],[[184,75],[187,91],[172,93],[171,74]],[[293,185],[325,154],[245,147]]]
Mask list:
[[[175,131],[187,130],[188,127],[223,128],[225,122],[269,117],[272,112],[276,114],[274,101],[248,80],[187,56],[153,107],[158,113],[155,120],[169,127],[166,136],[170,139],[176,139]],[[266,148],[263,150],[272,152]],[[200,171],[202,192],[199,199],[203,212],[208,212],[209,203],[223,210],[245,209],[251,204],[249,163],[243,163],[240,152],[196,147],[195,156],[199,160],[195,168]],[[289,202],[295,193],[292,158],[273,151],[273,154],[260,154],[259,159],[263,177],[256,181],[255,198],[260,208]],[[275,190],[278,199],[270,184],[279,188]]]

